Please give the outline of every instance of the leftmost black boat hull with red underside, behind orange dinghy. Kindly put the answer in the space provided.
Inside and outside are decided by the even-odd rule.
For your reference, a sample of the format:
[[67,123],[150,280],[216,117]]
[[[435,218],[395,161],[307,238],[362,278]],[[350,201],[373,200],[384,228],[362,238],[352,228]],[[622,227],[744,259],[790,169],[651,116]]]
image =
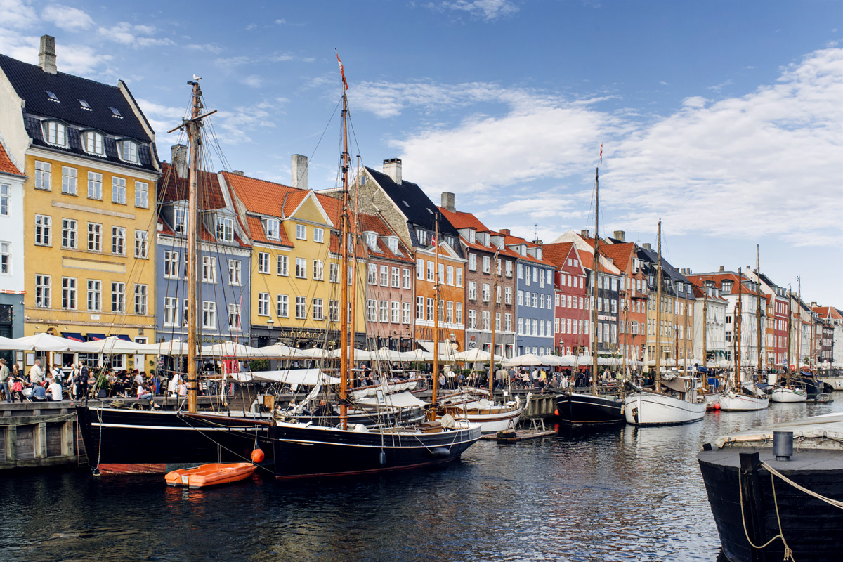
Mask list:
[[77,408],[88,461],[99,474],[164,474],[173,468],[271,455],[266,420],[175,411]]

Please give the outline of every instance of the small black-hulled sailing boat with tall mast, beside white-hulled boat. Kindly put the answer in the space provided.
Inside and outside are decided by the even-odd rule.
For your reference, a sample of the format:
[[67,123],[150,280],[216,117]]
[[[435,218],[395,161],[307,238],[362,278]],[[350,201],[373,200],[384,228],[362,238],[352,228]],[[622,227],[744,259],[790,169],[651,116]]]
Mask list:
[[574,392],[569,388],[556,399],[556,411],[563,423],[572,426],[591,424],[613,424],[624,420],[624,402],[615,394],[599,392],[597,367],[597,288],[599,286],[599,169],[594,169],[594,252],[592,268],[591,305],[591,392]]

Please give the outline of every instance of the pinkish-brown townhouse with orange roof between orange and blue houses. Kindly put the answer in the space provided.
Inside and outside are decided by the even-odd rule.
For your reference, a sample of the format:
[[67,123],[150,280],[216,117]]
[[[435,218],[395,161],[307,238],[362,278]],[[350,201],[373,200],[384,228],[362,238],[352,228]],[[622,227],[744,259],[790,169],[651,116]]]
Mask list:
[[443,193],[439,211],[459,231],[459,242],[468,256],[465,268],[466,348],[491,351],[491,323],[494,321],[495,355],[512,357],[515,352],[518,254],[507,248],[501,233],[491,231],[470,212],[457,211],[454,203],[453,193]]

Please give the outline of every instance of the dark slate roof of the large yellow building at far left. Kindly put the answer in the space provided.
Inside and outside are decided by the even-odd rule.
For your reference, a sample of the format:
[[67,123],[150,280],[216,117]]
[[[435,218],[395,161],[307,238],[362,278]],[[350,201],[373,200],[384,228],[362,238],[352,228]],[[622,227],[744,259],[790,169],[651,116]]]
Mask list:
[[[26,102],[24,126],[36,146],[91,158],[83,151],[79,136],[82,131],[95,129],[105,133],[104,160],[132,168],[155,169],[153,158],[157,157],[153,156],[152,139],[120,88],[64,72],[51,74],[44,72],[37,65],[20,62],[4,55],[0,55],[0,70],[3,70],[15,93]],[[59,101],[51,101],[47,91],[56,94]],[[79,103],[80,99],[89,104],[90,110],[83,109]],[[112,107],[118,110],[121,116],[115,116]],[[47,144],[43,138],[39,118],[64,121],[68,125],[69,146],[62,148]],[[121,138],[131,138],[141,143],[138,149],[139,164],[126,163],[118,158],[116,140]]]

